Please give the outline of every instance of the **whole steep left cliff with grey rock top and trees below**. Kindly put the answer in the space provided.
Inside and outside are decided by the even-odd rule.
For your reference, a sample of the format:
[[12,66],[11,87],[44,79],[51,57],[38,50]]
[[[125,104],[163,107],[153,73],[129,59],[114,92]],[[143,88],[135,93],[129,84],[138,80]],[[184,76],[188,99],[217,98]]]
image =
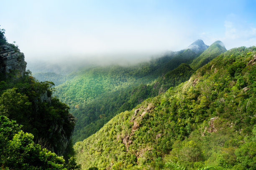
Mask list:
[[26,71],[24,54],[7,42],[4,31],[0,29],[0,169],[80,169],[70,155],[75,117],[67,104],[51,96],[52,82],[38,82]]

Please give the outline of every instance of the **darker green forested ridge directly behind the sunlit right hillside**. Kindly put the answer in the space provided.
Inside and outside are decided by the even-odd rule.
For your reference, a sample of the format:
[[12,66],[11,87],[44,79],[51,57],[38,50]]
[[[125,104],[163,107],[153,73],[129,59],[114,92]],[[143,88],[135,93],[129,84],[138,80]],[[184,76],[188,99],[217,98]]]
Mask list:
[[187,64],[181,64],[177,69],[169,71],[151,84],[140,84],[106,93],[88,104],[80,104],[72,112],[78,118],[74,130],[74,142],[84,140],[99,130],[116,114],[131,110],[144,99],[157,96],[171,86],[176,86],[192,75],[194,71]]

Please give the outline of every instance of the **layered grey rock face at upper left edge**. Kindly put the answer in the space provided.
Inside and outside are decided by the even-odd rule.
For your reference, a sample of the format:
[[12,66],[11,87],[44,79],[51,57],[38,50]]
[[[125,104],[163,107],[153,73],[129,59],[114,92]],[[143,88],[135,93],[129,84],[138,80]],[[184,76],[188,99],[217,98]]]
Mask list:
[[12,44],[0,46],[0,74],[12,72],[16,76],[23,76],[26,71],[27,63],[24,61],[24,54]]

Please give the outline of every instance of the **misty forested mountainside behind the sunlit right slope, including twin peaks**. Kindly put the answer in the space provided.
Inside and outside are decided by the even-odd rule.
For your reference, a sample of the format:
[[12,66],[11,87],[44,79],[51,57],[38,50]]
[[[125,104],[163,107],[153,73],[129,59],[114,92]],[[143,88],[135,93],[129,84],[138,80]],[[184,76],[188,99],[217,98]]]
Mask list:
[[197,40],[195,46],[196,51],[195,48],[181,50],[148,63],[80,71],[74,79],[56,86],[55,94],[69,104],[72,114],[78,118],[73,141],[84,140],[116,114],[187,81],[194,72],[188,64],[195,59],[205,61],[225,51],[216,42],[207,48],[202,40]]

